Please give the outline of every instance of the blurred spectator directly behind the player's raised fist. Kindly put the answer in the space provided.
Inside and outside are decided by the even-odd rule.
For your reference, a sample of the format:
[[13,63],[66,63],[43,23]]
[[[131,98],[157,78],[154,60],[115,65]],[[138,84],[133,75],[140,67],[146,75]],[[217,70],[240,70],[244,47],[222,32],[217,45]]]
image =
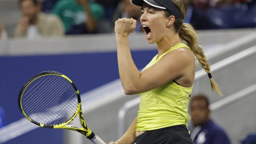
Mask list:
[[130,3],[130,0],[122,0],[115,11],[113,23],[115,23],[115,21],[118,18],[133,18],[137,20],[136,29],[133,32],[135,33],[141,32],[144,30],[141,27],[140,16],[141,16],[140,7],[133,6]]

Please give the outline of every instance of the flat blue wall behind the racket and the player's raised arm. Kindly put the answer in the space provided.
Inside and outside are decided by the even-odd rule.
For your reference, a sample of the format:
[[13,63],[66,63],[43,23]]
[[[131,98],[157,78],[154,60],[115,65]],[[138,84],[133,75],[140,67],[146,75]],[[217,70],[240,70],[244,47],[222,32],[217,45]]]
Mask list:
[[[157,54],[156,50],[132,52],[135,65],[139,69],[146,66],[155,54]],[[80,93],[119,78],[116,52],[2,56],[0,57],[0,105],[5,110],[7,124],[24,117],[18,106],[19,91],[29,78],[43,71],[63,73],[74,82]],[[42,135],[45,138],[41,138]],[[5,144],[14,143],[60,144],[62,130],[37,128]]]

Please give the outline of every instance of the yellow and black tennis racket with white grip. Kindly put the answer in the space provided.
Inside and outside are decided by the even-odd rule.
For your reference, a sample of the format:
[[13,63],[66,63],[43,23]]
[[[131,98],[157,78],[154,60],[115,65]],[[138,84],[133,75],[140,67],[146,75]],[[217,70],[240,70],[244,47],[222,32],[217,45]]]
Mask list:
[[[38,126],[71,129],[85,135],[94,144],[106,144],[86,125],[76,86],[59,72],[45,71],[30,78],[20,90],[19,108]],[[77,114],[82,127],[68,125]]]

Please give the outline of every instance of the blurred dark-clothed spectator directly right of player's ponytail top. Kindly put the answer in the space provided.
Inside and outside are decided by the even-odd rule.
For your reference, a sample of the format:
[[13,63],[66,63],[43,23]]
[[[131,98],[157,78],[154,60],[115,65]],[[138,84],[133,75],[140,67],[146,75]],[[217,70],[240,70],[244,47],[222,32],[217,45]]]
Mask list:
[[196,30],[214,29],[206,12],[196,8],[193,1],[197,0],[181,0],[186,10],[185,23],[190,23]]

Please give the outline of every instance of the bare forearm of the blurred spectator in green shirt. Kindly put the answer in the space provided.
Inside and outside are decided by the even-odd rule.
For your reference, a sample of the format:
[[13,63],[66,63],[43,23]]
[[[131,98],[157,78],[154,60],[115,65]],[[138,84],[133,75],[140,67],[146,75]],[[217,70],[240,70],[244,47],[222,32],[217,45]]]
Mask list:
[[92,33],[97,28],[97,20],[93,17],[89,4],[84,4],[83,9],[87,15],[87,21],[84,23],[84,25],[87,28],[88,32]]

